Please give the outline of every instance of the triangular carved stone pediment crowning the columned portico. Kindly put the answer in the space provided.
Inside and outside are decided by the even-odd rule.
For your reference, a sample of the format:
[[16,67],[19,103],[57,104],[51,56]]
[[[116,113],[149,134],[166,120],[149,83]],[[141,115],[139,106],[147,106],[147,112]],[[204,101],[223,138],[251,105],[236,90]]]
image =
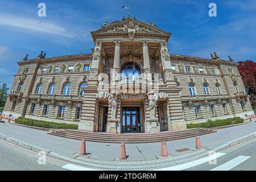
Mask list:
[[105,23],[101,29],[92,32],[92,34],[121,33],[128,31],[135,31],[136,33],[160,34],[166,36],[171,35],[170,33],[160,30],[158,27],[152,26],[151,24],[131,18],[116,21],[111,24]]

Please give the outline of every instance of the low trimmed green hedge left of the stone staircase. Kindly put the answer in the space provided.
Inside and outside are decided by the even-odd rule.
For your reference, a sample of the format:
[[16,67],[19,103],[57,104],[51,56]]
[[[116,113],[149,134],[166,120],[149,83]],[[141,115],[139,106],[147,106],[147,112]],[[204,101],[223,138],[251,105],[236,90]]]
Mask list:
[[78,125],[76,124],[39,121],[36,119],[30,119],[30,118],[24,118],[24,117],[16,118],[15,123],[19,125],[43,127],[46,129],[71,129],[71,130],[78,129]]

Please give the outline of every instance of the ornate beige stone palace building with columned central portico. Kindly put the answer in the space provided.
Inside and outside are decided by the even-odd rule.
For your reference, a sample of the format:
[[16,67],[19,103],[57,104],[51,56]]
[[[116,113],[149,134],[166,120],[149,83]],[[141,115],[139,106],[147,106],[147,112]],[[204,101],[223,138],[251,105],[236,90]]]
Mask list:
[[254,115],[231,57],[170,55],[170,33],[131,18],[91,34],[92,53],[19,61],[4,113],[115,134]]

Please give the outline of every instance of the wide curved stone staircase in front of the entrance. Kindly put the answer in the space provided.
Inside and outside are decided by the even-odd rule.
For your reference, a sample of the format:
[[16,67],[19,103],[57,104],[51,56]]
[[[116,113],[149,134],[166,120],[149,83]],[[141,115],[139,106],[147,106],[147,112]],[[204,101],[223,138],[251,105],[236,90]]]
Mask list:
[[199,135],[206,135],[214,133],[216,131],[208,129],[190,129],[184,131],[164,131],[156,134],[106,134],[106,133],[90,133],[77,130],[56,130],[49,135],[55,135],[58,137],[85,140],[90,142],[101,143],[152,143],[162,142],[163,140],[178,140],[184,138],[196,137]]

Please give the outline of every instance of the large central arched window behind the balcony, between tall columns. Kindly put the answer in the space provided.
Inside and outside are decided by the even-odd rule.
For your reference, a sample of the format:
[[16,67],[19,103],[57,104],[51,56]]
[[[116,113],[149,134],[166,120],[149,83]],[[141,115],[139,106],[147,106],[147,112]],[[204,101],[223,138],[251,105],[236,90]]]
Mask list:
[[133,80],[133,81],[135,80],[135,77],[138,77],[139,75],[141,75],[139,65],[132,62],[124,64],[121,69],[121,73],[123,73],[123,75],[125,75],[126,77],[128,77],[130,80]]

